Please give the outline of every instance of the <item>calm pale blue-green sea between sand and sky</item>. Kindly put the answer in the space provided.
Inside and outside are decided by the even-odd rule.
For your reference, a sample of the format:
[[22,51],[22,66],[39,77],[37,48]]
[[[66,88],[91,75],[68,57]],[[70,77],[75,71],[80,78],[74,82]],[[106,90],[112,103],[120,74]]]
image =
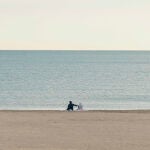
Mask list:
[[0,51],[0,110],[150,109],[150,51]]

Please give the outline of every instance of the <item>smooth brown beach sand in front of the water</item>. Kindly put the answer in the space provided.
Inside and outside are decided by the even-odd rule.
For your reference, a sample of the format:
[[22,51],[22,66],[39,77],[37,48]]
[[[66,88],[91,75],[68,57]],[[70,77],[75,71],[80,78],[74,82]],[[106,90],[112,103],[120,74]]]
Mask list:
[[0,150],[150,150],[150,111],[0,111]]

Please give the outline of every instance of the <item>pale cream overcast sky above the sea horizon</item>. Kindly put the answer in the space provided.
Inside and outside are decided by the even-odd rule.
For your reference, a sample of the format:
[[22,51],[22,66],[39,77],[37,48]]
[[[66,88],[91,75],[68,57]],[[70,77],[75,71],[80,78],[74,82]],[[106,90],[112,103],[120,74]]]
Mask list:
[[150,0],[0,0],[0,50],[150,50]]

